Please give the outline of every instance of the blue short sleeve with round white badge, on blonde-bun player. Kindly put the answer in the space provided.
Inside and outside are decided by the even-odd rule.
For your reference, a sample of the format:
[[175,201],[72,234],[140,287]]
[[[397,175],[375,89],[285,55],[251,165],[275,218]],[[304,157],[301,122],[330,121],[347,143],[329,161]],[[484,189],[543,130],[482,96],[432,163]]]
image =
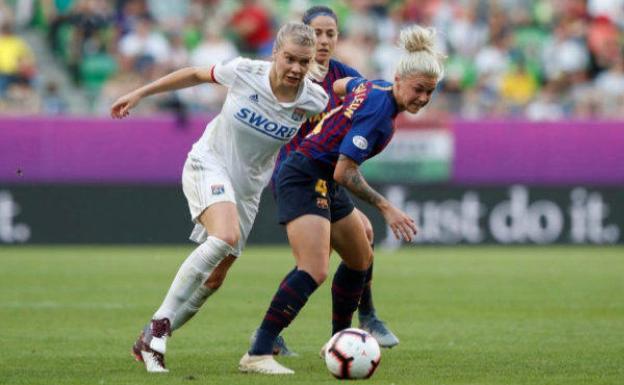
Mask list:
[[387,124],[386,119],[387,114],[379,108],[358,111],[353,117],[351,129],[340,143],[340,154],[348,156],[357,164],[362,164],[370,157],[377,142],[383,139],[379,128]]

